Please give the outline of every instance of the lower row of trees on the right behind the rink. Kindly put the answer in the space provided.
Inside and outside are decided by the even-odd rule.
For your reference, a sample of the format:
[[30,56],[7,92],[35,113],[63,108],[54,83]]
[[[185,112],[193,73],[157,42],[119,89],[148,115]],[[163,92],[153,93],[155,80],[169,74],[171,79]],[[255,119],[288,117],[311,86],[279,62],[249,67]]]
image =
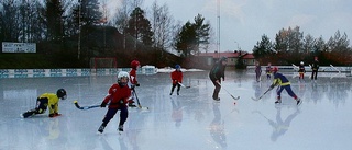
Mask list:
[[264,34],[254,46],[253,55],[262,65],[299,65],[300,61],[308,65],[315,57],[319,58],[320,65],[352,65],[352,47],[345,33],[337,31],[324,41],[321,36],[315,38],[310,34],[305,35],[299,26],[282,28],[276,34],[275,42]]

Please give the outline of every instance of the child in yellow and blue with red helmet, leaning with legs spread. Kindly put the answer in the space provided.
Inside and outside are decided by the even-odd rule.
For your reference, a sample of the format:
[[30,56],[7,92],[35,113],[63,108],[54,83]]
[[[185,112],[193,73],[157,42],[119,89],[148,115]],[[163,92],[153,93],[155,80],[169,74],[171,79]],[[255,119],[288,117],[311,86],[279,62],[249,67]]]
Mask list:
[[277,101],[275,102],[275,104],[282,103],[282,92],[283,92],[283,90],[286,90],[288,95],[294,97],[297,102],[297,105],[299,105],[301,103],[301,101],[299,97],[297,97],[297,95],[290,89],[290,82],[288,81],[288,79],[284,74],[278,73],[277,71],[278,71],[278,68],[274,67],[273,68],[274,81],[273,81],[273,84],[271,85],[271,89],[274,89],[274,86],[279,85],[276,91]]

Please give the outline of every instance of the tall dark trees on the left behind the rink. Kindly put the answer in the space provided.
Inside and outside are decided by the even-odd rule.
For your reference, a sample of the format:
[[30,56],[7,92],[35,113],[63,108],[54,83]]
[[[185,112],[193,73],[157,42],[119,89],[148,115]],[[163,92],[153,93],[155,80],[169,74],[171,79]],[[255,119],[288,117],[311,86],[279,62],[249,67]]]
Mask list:
[[81,66],[92,57],[133,59],[147,53],[163,62],[170,51],[187,57],[208,48],[211,26],[201,14],[183,25],[166,4],[155,1],[147,15],[142,3],[122,1],[109,16],[109,3],[99,0],[2,0],[0,41],[36,43],[37,54]]

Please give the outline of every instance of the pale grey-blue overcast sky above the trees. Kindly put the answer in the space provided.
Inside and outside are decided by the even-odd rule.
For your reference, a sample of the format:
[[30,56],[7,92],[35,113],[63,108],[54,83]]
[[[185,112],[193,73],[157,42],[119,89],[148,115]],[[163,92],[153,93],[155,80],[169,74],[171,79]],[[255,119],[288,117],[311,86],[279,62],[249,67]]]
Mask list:
[[[170,14],[183,24],[199,13],[210,21],[218,39],[218,0],[156,0],[166,3]],[[300,26],[300,32],[328,41],[339,30],[352,37],[352,0],[219,0],[220,51],[252,51],[267,35],[272,42],[282,28]],[[154,0],[144,0],[151,8]],[[351,43],[350,43],[351,46]],[[215,49],[216,50],[216,47]],[[213,51],[210,50],[210,51]]]

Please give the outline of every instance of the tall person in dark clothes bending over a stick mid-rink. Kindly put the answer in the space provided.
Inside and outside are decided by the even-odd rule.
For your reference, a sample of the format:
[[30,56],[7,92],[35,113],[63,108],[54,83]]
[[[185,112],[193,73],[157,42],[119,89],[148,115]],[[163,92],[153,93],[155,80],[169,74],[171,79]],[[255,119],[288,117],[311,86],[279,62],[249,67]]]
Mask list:
[[213,83],[213,85],[216,86],[212,94],[212,99],[216,101],[220,101],[219,92],[221,89],[221,78],[222,78],[222,81],[224,81],[224,70],[227,65],[228,65],[228,58],[221,57],[220,60],[212,66],[209,72],[209,78]]

